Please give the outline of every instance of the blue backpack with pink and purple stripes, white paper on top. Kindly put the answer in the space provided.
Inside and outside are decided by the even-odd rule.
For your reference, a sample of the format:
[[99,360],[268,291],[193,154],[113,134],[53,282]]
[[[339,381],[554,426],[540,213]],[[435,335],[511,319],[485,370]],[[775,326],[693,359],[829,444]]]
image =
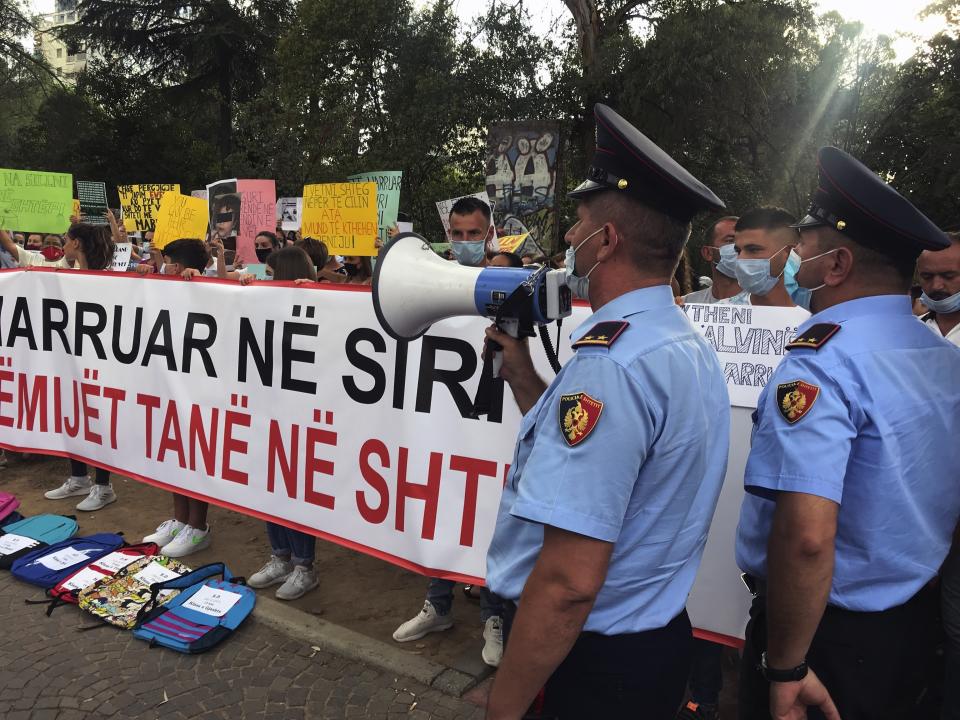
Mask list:
[[[150,601],[140,610],[133,636],[146,640],[150,647],[205,652],[232,635],[253,611],[257,595],[245,582],[234,578],[223,563],[213,563],[152,585]],[[180,594],[156,607],[159,593],[168,589],[179,589]]]

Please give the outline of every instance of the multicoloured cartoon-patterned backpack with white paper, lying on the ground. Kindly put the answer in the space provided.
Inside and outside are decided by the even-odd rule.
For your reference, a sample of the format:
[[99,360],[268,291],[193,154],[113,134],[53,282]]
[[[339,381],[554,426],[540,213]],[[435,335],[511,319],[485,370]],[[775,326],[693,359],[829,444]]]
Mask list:
[[[108,625],[131,630],[137,614],[150,599],[150,586],[155,582],[186,575],[190,568],[166,555],[145,556],[134,560],[113,577],[105,577],[77,593],[81,610],[103,620]],[[165,603],[177,594],[165,592],[158,603]]]

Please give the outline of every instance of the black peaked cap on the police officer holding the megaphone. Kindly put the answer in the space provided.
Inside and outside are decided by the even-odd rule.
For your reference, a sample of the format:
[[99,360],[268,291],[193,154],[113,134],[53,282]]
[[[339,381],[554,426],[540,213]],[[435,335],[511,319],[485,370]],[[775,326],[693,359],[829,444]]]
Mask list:
[[597,103],[593,112],[597,149],[587,179],[570,197],[615,190],[684,222],[701,211],[726,207],[710,188],[613,110]]

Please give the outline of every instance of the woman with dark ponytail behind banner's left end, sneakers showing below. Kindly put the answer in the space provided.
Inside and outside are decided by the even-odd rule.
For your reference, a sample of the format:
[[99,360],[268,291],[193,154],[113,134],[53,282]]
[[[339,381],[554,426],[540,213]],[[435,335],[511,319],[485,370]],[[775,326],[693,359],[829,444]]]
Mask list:
[[[109,270],[113,263],[113,240],[105,226],[74,223],[67,230],[63,243],[63,257],[55,263],[46,261],[40,253],[24,250],[16,245],[5,230],[0,230],[0,244],[13,255],[20,267],[55,267],[74,270]],[[110,473],[96,469],[96,482],[90,482],[86,463],[70,458],[70,477],[55,490],[44,493],[48,500],[86,495],[77,510],[93,512],[116,502],[117,495],[110,484]]]

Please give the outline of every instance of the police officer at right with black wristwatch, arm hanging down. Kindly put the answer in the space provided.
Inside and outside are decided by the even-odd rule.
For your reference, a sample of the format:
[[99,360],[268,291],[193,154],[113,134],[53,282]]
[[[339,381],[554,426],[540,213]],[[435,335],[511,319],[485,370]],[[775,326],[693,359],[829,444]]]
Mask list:
[[914,718],[960,516],[960,352],[908,292],[948,239],[850,155],[818,164],[794,296],[814,315],[760,396],[744,480],[740,717]]

